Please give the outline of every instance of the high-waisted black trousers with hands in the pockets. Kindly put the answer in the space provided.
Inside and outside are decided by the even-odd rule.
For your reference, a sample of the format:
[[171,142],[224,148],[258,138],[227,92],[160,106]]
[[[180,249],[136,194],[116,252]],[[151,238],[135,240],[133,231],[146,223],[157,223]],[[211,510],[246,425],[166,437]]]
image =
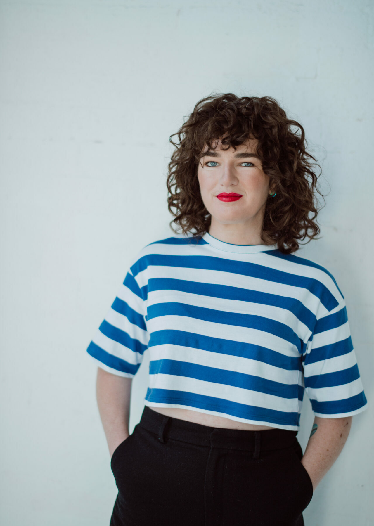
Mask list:
[[145,406],[114,451],[110,526],[304,526],[297,431],[213,428]]

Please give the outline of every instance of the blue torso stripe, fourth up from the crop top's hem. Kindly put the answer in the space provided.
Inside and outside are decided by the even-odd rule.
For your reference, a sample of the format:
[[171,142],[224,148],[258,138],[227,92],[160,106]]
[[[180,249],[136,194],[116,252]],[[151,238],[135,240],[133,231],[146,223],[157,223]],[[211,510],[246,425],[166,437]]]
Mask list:
[[236,327],[257,329],[289,341],[297,347],[300,353],[304,348],[304,342],[300,340],[291,327],[280,321],[262,316],[242,314],[240,312],[226,312],[177,302],[158,303],[156,305],[150,305],[147,308],[147,320],[159,316],[186,316],[188,318],[219,323],[220,325],[234,325]]

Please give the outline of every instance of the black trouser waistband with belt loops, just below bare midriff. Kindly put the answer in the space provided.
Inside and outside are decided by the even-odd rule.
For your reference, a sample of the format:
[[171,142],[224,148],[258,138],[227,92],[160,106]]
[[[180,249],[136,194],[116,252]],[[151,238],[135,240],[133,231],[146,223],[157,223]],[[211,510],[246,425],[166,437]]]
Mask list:
[[292,446],[297,440],[296,435],[298,433],[298,431],[288,429],[249,431],[246,429],[214,428],[179,418],[167,417],[148,406],[144,406],[138,425],[157,434],[160,442],[166,442],[168,438],[171,438],[198,446],[255,451],[255,458],[258,458],[260,450],[270,451]]

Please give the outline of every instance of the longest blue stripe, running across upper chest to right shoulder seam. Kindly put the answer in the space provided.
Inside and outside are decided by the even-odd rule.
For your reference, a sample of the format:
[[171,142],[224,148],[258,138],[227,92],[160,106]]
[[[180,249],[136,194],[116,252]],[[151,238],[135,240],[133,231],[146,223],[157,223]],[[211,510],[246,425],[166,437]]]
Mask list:
[[311,292],[311,294],[314,294],[321,300],[322,305],[324,305],[327,310],[332,310],[339,305],[338,301],[331,294],[329,289],[317,279],[306,276],[297,276],[295,274],[290,274],[289,272],[284,272],[270,267],[264,267],[263,265],[258,265],[247,261],[236,261],[214,256],[174,256],[164,254],[149,254],[140,257],[132,265],[131,271],[134,276],[137,276],[139,272],[145,270],[151,265],[218,270],[230,272],[231,274],[238,274],[241,276],[264,279],[266,281],[307,289],[309,292]]

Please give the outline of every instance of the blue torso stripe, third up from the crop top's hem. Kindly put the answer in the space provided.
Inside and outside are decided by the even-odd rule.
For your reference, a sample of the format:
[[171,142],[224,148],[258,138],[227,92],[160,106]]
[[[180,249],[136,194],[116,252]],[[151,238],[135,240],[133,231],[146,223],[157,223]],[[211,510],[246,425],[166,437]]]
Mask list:
[[223,355],[240,356],[262,363],[268,363],[269,365],[287,371],[301,370],[300,357],[284,356],[280,352],[254,345],[253,343],[213,338],[195,332],[175,329],[153,331],[150,333],[148,348],[157,345],[190,347],[191,349],[200,349],[201,351],[216,352]]

